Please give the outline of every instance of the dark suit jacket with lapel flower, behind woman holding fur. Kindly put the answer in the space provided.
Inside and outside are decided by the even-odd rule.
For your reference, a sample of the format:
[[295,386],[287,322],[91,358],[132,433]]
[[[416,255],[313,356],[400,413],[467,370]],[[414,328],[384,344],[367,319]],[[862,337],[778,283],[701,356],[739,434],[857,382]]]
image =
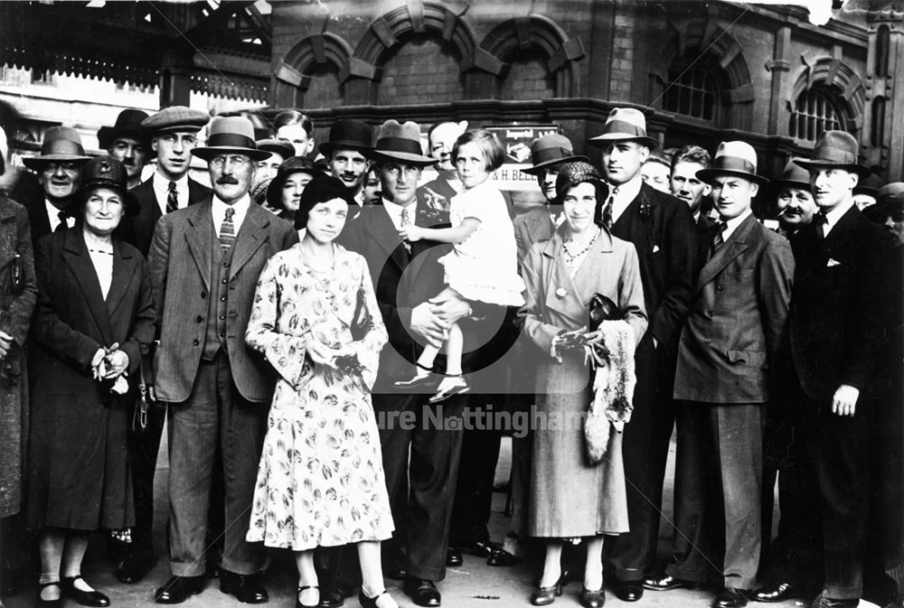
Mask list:
[[694,230],[687,203],[645,183],[612,225],[612,235],[633,243],[640,258],[650,318],[647,334],[669,350],[678,339],[691,299],[697,253]]

